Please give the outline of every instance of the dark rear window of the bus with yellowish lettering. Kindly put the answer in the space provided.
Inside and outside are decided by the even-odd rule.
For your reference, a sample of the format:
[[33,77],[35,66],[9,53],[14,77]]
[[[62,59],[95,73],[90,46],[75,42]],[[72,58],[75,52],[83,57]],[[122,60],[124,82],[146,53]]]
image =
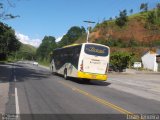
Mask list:
[[98,45],[86,44],[84,51],[89,55],[95,55],[95,56],[108,55],[108,48],[103,46],[98,46]]

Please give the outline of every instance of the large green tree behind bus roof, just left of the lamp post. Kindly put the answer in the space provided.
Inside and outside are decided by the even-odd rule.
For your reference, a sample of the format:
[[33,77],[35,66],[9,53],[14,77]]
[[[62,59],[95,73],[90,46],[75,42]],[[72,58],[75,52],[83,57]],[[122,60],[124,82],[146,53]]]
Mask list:
[[62,40],[58,43],[59,47],[63,47],[65,45],[73,44],[78,38],[80,38],[83,34],[85,34],[84,27],[73,26],[71,27],[67,34],[63,36]]

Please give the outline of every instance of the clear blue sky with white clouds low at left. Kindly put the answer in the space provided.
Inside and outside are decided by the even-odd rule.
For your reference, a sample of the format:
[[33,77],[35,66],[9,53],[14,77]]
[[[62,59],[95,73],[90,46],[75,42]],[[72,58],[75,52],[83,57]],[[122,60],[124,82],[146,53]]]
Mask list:
[[[2,1],[2,0],[0,0]],[[120,10],[139,12],[141,3],[155,7],[160,0],[10,0],[7,12],[20,17],[2,22],[11,26],[25,44],[39,46],[44,36],[61,40],[73,26],[87,27],[85,20],[96,23],[115,18]],[[93,24],[94,26],[95,24]]]

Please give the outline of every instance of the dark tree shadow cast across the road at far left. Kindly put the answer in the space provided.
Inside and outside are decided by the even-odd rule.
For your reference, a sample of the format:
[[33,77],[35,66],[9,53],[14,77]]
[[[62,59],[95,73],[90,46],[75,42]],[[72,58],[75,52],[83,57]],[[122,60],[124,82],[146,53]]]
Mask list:
[[23,82],[25,80],[44,80],[49,75],[43,70],[29,68],[23,64],[0,64],[0,83],[13,82],[14,76],[17,82]]

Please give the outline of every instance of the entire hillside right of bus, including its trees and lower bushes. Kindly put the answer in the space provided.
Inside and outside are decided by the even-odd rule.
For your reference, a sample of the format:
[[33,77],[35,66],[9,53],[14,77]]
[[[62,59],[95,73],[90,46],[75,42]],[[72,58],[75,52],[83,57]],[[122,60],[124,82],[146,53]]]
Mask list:
[[[150,10],[148,3],[139,8],[137,14],[133,14],[133,9],[121,10],[119,16],[97,23],[90,31],[89,42],[109,46],[111,64],[119,69],[131,67],[133,62],[141,61],[146,51],[160,47],[160,3]],[[85,41],[83,35],[75,43]]]

